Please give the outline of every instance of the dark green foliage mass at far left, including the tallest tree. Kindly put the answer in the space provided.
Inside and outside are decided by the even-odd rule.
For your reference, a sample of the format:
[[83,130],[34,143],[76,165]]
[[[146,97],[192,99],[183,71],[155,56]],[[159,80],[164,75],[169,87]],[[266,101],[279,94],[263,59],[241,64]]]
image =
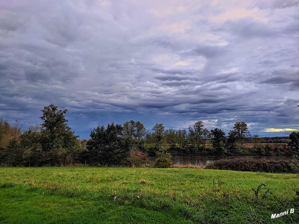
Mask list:
[[42,110],[43,120],[39,125],[30,126],[28,131],[20,133],[15,125],[16,136],[11,137],[7,147],[0,150],[1,163],[4,165],[67,165],[84,150],[84,145],[77,142],[77,137],[67,125],[65,113],[68,110],[58,110],[51,104]]

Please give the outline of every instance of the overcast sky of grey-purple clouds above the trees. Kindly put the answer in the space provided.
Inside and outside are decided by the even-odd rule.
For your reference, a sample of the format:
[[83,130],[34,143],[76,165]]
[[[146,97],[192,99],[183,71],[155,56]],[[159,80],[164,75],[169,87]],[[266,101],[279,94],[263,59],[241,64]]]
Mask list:
[[131,119],[286,136],[299,129],[298,15],[289,0],[1,0],[0,117],[27,129],[53,103],[81,139]]

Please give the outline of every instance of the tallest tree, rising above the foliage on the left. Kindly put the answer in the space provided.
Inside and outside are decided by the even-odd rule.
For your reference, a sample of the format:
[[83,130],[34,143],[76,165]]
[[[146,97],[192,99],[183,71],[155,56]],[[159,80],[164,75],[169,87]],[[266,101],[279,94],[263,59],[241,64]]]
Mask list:
[[47,151],[50,152],[52,164],[63,162],[69,150],[76,146],[79,136],[74,135],[65,119],[67,109],[58,110],[58,107],[51,104],[42,110],[40,117],[44,122],[41,124],[41,133],[45,137]]

